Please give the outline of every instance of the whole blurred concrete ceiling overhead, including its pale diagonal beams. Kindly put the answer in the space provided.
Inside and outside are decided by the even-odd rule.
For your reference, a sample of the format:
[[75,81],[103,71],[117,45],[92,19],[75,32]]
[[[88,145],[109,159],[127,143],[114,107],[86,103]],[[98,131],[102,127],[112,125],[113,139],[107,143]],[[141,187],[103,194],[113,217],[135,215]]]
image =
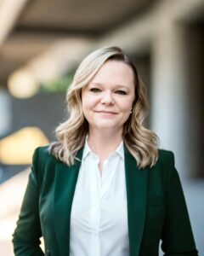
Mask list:
[[204,0],[0,0],[0,85],[5,86],[9,74],[20,67],[31,68],[41,82],[52,79],[50,73],[64,73],[65,67],[71,69],[83,55],[102,45],[119,43],[130,54],[136,53],[135,49],[141,53],[148,49],[150,38],[159,27],[172,20],[201,23],[203,3]]

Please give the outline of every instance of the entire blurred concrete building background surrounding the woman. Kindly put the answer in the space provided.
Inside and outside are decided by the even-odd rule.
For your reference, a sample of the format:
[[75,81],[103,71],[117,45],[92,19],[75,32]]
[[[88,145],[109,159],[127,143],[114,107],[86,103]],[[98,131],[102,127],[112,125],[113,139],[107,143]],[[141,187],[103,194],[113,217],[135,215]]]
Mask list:
[[173,150],[204,255],[204,0],[0,0],[0,252],[12,233],[34,148],[67,118],[82,58],[118,45],[148,90],[146,125]]

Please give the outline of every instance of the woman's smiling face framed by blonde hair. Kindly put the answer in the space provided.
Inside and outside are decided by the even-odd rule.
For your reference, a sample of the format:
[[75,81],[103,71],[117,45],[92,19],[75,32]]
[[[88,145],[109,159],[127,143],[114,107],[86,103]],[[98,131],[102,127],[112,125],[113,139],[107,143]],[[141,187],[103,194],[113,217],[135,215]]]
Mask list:
[[82,88],[82,110],[89,129],[122,131],[134,100],[133,70],[122,61],[106,61]]

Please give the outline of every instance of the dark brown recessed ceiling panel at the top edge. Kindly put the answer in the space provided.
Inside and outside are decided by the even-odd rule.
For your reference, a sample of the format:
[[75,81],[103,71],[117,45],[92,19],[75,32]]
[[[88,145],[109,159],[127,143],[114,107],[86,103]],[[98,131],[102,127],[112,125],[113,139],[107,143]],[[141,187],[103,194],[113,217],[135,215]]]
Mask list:
[[139,15],[153,0],[32,0],[17,28],[99,34]]

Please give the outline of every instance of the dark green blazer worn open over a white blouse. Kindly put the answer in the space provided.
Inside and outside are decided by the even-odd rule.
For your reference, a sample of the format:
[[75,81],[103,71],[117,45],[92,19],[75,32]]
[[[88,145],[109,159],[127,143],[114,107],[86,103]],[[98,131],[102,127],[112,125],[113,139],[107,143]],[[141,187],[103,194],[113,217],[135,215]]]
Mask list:
[[[82,149],[77,157],[82,159]],[[50,155],[48,147],[36,149],[14,231],[14,255],[69,256],[80,160],[69,167]],[[160,240],[165,255],[198,255],[173,153],[159,150],[156,165],[139,170],[125,148],[125,172],[129,256],[157,256]],[[39,247],[41,236],[45,254]]]

